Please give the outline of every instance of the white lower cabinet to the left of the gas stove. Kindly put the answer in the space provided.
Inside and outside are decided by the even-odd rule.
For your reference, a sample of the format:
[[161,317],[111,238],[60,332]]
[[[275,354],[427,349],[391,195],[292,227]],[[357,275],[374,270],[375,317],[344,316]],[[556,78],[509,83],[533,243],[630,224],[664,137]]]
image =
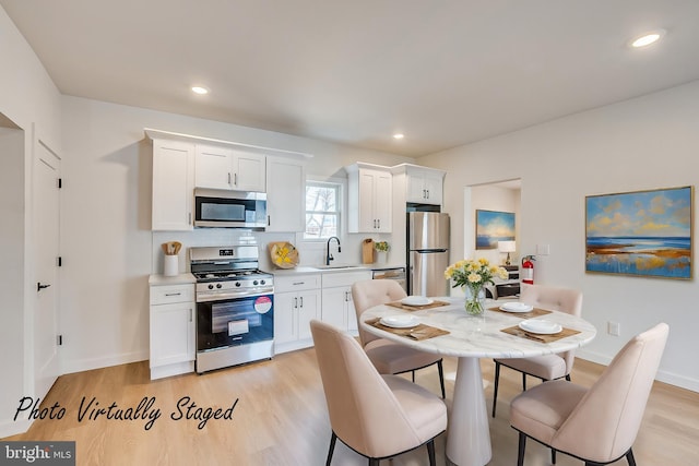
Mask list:
[[151,285],[151,379],[193,372],[194,284]]

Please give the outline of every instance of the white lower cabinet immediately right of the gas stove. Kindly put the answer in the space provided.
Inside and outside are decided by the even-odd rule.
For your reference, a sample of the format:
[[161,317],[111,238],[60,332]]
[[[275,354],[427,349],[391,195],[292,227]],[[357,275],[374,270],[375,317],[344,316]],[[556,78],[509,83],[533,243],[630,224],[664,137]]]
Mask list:
[[313,345],[310,321],[320,319],[320,274],[274,276],[274,353]]

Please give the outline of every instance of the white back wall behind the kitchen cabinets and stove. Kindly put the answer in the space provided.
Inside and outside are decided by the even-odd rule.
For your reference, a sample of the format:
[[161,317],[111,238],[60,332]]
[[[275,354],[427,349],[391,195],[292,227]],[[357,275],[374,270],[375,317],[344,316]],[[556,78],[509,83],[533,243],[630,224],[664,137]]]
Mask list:
[[[64,372],[149,358],[147,276],[162,272],[162,242],[179,240],[185,248],[220,246],[235,242],[240,235],[239,230],[151,232],[152,145],[144,128],[311,154],[308,174],[316,179],[346,177],[342,167],[357,160],[382,165],[412,162],[392,154],[76,97],[64,96],[62,110],[64,265],[60,309]],[[256,236],[262,254],[266,254],[269,241],[295,238],[292,234]],[[363,237],[344,238],[346,262],[358,261]],[[187,261],[180,255],[185,271]],[[263,255],[262,263],[265,261]]]

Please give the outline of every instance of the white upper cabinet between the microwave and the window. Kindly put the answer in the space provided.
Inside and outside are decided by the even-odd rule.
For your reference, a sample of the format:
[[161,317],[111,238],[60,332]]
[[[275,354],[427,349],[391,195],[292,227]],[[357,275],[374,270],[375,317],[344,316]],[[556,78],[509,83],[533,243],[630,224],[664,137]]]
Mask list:
[[304,231],[306,163],[288,157],[266,157],[265,231]]

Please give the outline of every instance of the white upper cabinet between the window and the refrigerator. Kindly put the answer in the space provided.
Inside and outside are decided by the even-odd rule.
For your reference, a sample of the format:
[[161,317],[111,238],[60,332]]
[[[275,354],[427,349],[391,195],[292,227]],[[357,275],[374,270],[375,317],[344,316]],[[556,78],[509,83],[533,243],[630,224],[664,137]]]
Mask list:
[[391,232],[392,175],[388,167],[357,163],[345,167],[350,232]]

